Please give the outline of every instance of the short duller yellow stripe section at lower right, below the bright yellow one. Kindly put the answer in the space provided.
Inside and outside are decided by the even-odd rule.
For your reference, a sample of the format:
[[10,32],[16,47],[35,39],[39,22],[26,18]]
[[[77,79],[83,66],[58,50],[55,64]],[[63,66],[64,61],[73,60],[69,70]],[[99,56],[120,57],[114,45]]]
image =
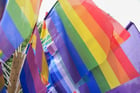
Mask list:
[[116,75],[114,74],[112,68],[110,67],[109,63],[107,60],[105,60],[101,65],[100,69],[103,72],[109,86],[112,88],[115,88],[116,86],[120,85],[120,82]]

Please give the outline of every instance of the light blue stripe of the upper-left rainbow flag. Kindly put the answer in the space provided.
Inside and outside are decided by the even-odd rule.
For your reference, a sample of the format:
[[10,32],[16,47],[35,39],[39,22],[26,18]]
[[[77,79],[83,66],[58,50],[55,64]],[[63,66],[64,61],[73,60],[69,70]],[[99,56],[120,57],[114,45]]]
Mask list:
[[[21,24],[22,25],[22,24]],[[10,41],[10,43],[13,45],[13,47],[16,49],[21,44],[21,42],[24,40],[22,36],[20,35],[18,29],[14,25],[11,17],[9,16],[8,12],[5,11],[4,17],[1,20],[1,27],[7,37],[7,39]]]

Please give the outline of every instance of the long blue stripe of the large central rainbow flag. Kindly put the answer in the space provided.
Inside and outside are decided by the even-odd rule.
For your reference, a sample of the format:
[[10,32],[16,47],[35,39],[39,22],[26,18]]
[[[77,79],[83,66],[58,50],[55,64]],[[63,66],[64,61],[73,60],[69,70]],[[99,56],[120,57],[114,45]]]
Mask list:
[[54,9],[52,9],[52,12],[50,12],[49,17],[51,17],[58,33],[63,38],[64,43],[67,47],[67,50],[69,51],[70,56],[75,64],[76,68],[78,69],[79,74],[81,76],[84,76],[85,73],[88,72],[88,69],[86,68],[85,64],[83,63],[82,59],[80,58],[80,56],[79,56],[78,52],[76,51],[74,45],[72,44],[71,40],[69,39],[59,15],[57,14],[57,12]]

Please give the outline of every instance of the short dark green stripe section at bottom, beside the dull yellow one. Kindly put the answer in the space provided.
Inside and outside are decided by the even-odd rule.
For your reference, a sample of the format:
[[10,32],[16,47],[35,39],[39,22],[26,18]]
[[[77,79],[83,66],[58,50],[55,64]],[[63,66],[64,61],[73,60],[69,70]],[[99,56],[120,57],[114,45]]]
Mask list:
[[92,69],[91,72],[93,73],[95,80],[98,83],[102,93],[105,93],[111,89],[109,84],[107,83],[102,71],[100,70],[99,66]]

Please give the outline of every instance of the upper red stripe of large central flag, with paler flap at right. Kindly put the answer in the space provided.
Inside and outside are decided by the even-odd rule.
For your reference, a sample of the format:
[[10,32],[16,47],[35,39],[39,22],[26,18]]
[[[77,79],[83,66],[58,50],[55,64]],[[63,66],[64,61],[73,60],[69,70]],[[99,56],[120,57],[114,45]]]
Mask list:
[[117,32],[123,41],[127,40],[130,34],[109,14],[99,9],[91,0],[85,0],[82,5],[87,9],[91,16],[101,26],[109,38],[112,37],[113,31]]

